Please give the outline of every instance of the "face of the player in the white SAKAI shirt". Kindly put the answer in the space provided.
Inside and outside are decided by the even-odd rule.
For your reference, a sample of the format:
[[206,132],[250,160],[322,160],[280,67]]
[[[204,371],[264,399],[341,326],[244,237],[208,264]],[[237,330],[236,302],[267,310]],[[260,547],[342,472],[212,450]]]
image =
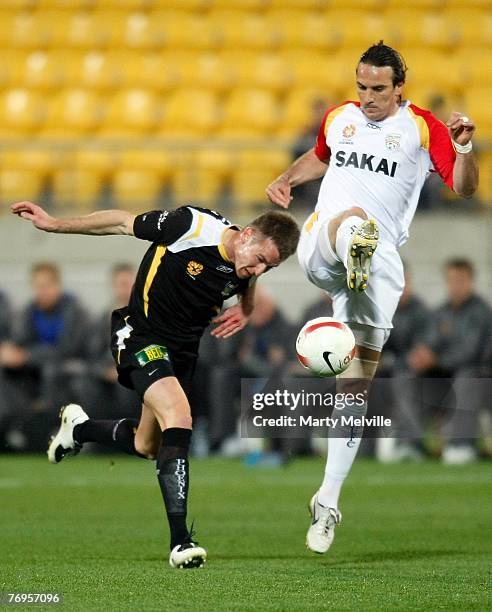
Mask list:
[[382,121],[398,110],[403,84],[393,85],[393,68],[360,63],[357,93],[362,112],[371,121]]

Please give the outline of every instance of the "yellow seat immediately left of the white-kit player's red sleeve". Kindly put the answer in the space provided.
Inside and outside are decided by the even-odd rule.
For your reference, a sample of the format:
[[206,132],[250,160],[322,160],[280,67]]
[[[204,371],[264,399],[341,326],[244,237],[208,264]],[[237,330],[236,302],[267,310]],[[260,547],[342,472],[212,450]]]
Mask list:
[[[328,109],[340,100],[330,99],[322,89],[295,89],[282,104],[282,119],[278,134],[290,138],[298,137],[313,120],[313,104],[316,100],[325,100]],[[321,124],[321,122],[320,122]]]

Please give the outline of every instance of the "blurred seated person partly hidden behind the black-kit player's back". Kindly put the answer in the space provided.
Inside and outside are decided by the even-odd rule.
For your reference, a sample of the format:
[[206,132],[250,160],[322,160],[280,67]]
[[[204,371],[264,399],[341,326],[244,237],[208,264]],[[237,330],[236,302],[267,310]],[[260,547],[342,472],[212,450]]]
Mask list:
[[111,272],[111,304],[89,333],[89,378],[83,385],[83,402],[91,418],[139,418],[141,402],[131,390],[118,383],[118,374],[109,348],[111,312],[128,305],[135,269],[126,263],[117,264]]

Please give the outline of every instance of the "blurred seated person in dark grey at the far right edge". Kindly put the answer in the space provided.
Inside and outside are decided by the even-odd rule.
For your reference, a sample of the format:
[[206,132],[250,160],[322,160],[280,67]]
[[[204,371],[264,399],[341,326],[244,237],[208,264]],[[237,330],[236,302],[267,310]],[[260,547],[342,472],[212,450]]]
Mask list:
[[[475,293],[471,262],[452,259],[445,266],[445,275],[448,300],[433,314],[424,342],[412,349],[407,363],[418,377],[454,379],[452,394],[447,396],[455,405],[438,407],[447,409],[448,419],[443,459],[458,463],[476,456],[477,415],[489,399],[479,392],[477,377],[482,375],[490,351],[492,311]],[[403,392],[401,385],[399,398],[418,426],[414,437],[421,438],[423,415],[417,408],[424,402],[415,401],[415,395]]]

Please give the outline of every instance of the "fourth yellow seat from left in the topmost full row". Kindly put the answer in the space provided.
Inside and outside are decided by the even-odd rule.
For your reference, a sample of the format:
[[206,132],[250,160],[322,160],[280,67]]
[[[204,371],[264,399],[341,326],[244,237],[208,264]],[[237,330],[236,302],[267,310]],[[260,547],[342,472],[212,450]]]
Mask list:
[[164,49],[213,49],[220,42],[215,25],[205,14],[155,10],[150,18],[159,34],[162,32]]

